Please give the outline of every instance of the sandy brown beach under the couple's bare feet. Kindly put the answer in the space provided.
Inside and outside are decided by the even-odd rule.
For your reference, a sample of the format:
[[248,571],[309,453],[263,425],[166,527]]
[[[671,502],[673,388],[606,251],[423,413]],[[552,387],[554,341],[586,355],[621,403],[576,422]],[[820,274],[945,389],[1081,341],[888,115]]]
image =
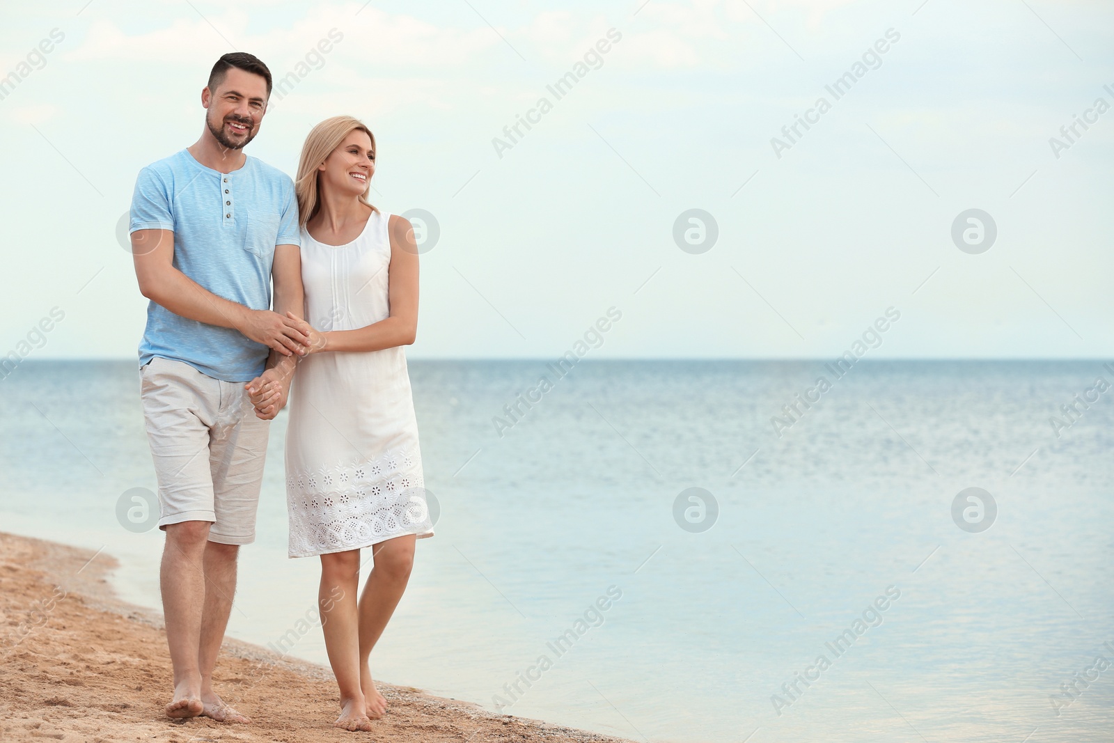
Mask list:
[[330,724],[338,701],[329,668],[233,639],[216,686],[253,722],[170,721],[162,617],[115,597],[114,567],[107,551],[0,534],[0,740],[620,741],[382,682],[387,715],[371,733],[348,733]]

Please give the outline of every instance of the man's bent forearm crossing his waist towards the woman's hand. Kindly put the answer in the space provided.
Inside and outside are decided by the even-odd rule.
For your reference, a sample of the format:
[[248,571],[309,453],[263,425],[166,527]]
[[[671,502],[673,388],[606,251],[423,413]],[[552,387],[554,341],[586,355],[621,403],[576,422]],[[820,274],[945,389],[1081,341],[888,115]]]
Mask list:
[[[296,246],[294,246],[296,251]],[[277,248],[275,257],[277,260]],[[131,255],[139,280],[139,291],[148,300],[176,315],[209,325],[232,327],[245,336],[267,345],[272,353],[290,356],[305,353],[310,339],[284,312],[251,310],[217,296],[174,267],[174,232],[170,229],[137,229],[131,233]],[[296,257],[296,254],[295,254]],[[297,296],[302,295],[301,275]],[[277,296],[277,285],[275,287]],[[277,309],[278,305],[275,304]],[[301,305],[297,314],[301,315]]]

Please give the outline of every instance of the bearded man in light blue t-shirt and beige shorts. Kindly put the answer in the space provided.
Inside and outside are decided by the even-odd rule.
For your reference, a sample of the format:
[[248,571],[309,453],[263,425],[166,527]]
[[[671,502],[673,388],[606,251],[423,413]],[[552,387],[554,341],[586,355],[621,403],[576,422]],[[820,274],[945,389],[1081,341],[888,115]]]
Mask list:
[[242,151],[270,95],[256,57],[217,60],[202,90],[201,139],[143,168],[131,201],[136,276],[150,300],[139,374],[166,531],[169,717],[248,722],[213,690],[266,453],[268,422],[248,393],[282,407],[309,343],[286,317],[304,312],[293,182]]

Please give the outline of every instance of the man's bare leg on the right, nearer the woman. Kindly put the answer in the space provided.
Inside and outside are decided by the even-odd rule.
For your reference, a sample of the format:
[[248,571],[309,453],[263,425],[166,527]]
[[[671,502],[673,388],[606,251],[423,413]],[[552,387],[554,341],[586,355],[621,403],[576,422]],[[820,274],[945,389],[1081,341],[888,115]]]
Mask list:
[[205,609],[202,613],[198,667],[202,676],[202,714],[217,722],[251,722],[213,691],[213,668],[224,642],[224,630],[236,594],[236,557],[240,547],[211,541],[205,546]]

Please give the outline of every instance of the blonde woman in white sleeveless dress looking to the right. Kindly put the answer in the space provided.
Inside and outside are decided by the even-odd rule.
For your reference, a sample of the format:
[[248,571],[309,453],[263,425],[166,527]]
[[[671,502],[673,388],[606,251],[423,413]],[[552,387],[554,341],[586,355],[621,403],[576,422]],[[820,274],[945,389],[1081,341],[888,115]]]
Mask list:
[[[374,173],[371,130],[335,116],[306,137],[295,183],[311,353],[290,391],[290,556],[321,556],[334,724],[350,731],[387,710],[368,656],[407,587],[414,540],[433,536],[402,349],[418,325],[418,250],[407,219],[368,202]],[[356,602],[364,547],[374,567]]]

